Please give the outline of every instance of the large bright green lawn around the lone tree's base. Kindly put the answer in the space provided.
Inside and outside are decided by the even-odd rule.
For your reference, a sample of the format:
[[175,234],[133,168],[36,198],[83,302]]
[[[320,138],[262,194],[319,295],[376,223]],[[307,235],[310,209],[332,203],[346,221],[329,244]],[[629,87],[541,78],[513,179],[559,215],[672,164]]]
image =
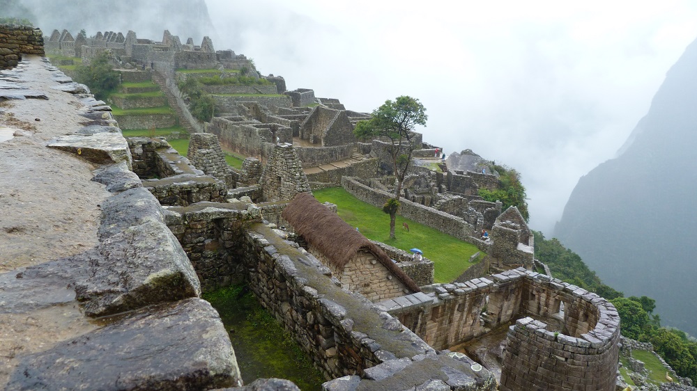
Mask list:
[[[362,202],[341,187],[314,191],[319,202],[332,202],[339,207],[339,217],[346,223],[357,227],[365,237],[381,241],[390,246],[408,251],[419,248],[424,257],[434,262],[434,282],[452,282],[468,269],[469,258],[479,251],[473,244],[466,243],[450,235],[438,232],[407,218],[397,215],[395,236],[390,239],[390,216],[380,208]],[[410,231],[402,228],[408,223]]]

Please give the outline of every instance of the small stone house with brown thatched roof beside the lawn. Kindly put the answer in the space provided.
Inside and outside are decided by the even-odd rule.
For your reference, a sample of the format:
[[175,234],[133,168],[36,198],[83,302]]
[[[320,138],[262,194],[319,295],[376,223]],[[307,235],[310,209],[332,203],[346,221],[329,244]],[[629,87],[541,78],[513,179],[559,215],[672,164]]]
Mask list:
[[371,301],[420,292],[383,250],[342,221],[312,194],[300,193],[282,217],[307,241],[307,250],[331,269],[342,287]]

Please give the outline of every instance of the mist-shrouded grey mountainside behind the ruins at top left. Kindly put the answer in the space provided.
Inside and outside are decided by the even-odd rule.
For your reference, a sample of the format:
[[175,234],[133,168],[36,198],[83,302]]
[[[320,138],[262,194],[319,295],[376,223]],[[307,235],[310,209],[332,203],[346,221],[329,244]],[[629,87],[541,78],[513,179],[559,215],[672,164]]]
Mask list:
[[[116,31],[135,31],[138,38],[159,40],[164,30],[179,35],[182,43],[194,38],[199,45],[204,35],[213,35],[204,0],[0,0],[0,17],[26,18],[45,35],[67,29],[75,36]],[[215,44],[215,42],[213,42]]]

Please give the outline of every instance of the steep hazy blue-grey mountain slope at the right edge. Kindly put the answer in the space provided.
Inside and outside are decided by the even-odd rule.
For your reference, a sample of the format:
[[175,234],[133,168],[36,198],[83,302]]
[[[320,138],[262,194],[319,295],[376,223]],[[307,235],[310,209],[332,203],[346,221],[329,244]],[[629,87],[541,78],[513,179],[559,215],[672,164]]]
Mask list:
[[697,41],[618,152],[581,177],[554,236],[606,284],[697,335]]

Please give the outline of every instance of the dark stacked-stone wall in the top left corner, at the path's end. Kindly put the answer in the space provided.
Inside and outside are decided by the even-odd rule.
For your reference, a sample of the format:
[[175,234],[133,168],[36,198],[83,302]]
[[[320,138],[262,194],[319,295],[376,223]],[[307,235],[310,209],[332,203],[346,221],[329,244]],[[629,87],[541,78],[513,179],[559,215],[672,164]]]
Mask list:
[[0,24],[0,70],[16,67],[22,54],[45,55],[41,30]]

